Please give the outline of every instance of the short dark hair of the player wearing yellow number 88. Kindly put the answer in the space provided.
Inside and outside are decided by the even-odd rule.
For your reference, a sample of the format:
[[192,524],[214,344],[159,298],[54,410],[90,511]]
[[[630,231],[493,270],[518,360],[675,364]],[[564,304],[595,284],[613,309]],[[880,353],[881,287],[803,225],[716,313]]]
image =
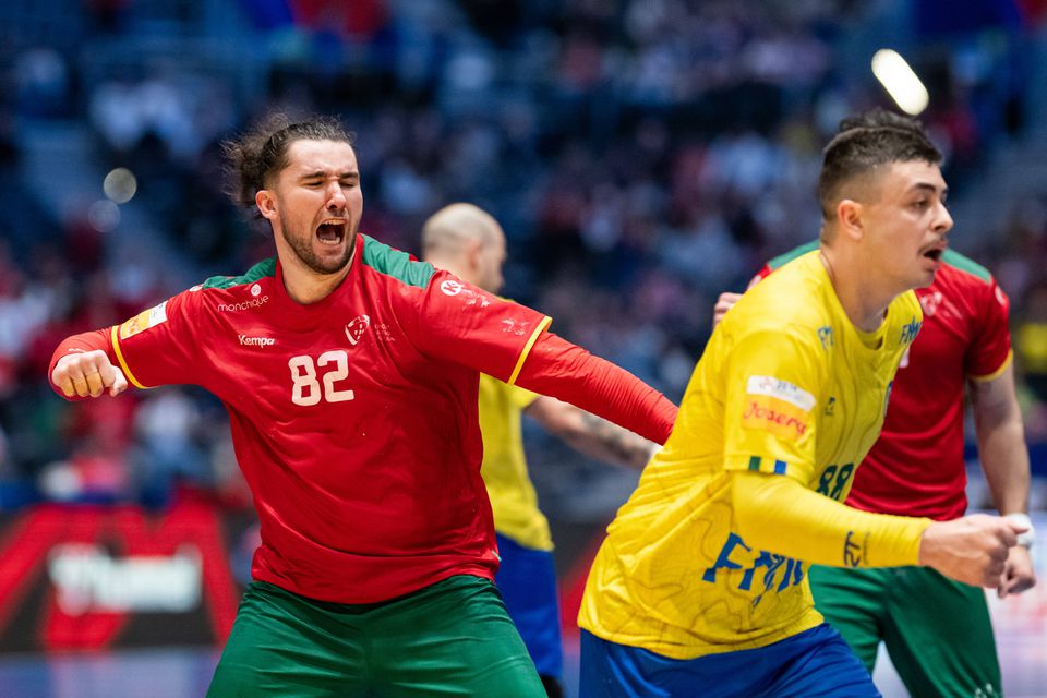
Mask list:
[[841,121],[822,155],[818,201],[826,221],[834,215],[834,204],[843,185],[880,165],[912,160],[941,163],[941,152],[927,137],[918,120],[879,108]]

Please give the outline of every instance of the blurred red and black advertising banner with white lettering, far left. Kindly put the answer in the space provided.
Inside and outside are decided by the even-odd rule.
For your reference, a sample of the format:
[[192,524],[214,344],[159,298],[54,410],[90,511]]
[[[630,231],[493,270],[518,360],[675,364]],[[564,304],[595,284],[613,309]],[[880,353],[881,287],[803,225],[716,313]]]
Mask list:
[[31,507],[0,517],[0,652],[222,645],[250,513],[183,502]]

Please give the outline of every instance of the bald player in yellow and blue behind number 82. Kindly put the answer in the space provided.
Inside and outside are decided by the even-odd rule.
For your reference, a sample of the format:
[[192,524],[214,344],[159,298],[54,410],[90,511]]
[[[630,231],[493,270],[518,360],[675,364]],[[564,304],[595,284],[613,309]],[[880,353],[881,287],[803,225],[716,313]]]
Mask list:
[[[442,208],[422,228],[422,256],[491,292],[502,288],[505,233],[471,204]],[[563,695],[559,604],[549,521],[527,471],[521,414],[576,449],[606,462],[641,468],[653,444],[555,398],[481,374],[481,474],[494,510],[501,564],[495,583],[550,698]]]

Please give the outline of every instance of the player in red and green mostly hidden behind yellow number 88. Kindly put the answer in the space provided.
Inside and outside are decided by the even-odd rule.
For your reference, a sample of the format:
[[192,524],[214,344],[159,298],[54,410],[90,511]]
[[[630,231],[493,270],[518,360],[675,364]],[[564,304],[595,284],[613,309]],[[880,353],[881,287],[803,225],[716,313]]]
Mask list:
[[[771,260],[749,284],[817,248]],[[964,388],[970,386],[982,468],[996,508],[1028,528],[1010,550],[1000,598],[1036,583],[1030,546],[1028,452],[1014,392],[1009,303],[992,276],[947,250],[934,282],[916,290],[924,325],[902,358],[876,445],[847,504],[865,512],[948,521],[967,508]],[[714,322],[741,298],[723,293]],[[935,569],[815,566],[817,609],[869,672],[882,640],[913,696],[1000,696],[1000,666],[982,589]]]

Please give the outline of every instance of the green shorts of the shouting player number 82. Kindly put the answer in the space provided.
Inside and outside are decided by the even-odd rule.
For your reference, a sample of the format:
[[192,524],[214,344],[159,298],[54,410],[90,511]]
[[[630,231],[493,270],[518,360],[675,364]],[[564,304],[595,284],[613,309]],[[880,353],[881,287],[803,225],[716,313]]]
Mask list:
[[305,599],[252,582],[208,698],[541,697],[494,585],[457,576],[382,603]]

